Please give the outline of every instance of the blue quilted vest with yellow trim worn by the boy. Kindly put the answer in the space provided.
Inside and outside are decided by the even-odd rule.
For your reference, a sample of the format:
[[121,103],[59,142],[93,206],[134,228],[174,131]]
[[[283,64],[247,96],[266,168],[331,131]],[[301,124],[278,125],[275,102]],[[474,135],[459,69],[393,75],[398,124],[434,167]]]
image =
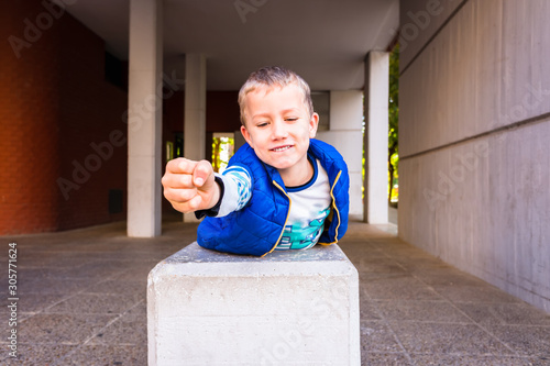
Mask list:
[[[348,230],[350,177],[342,156],[331,145],[310,140],[308,154],[327,170],[332,196],[319,244],[337,243]],[[200,246],[219,252],[264,256],[275,249],[285,230],[290,198],[277,169],[260,160],[245,144],[229,165],[244,167],[252,177],[252,197],[246,206],[222,218],[207,217],[197,230]]]

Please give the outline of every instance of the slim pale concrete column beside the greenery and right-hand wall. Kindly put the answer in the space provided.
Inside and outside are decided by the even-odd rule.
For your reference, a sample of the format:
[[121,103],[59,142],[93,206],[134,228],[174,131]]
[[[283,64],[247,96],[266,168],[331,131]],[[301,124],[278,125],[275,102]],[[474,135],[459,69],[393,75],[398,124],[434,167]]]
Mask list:
[[365,62],[364,221],[387,223],[389,53],[372,51]]

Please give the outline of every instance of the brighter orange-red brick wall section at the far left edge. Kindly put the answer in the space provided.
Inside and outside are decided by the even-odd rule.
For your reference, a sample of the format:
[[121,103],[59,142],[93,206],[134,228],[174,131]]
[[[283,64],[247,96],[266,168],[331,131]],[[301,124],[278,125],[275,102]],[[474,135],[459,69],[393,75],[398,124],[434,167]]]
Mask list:
[[0,21],[0,234],[58,225],[57,29],[25,40],[25,27],[26,38],[38,36],[25,19],[35,23],[42,11],[40,3],[10,1]]

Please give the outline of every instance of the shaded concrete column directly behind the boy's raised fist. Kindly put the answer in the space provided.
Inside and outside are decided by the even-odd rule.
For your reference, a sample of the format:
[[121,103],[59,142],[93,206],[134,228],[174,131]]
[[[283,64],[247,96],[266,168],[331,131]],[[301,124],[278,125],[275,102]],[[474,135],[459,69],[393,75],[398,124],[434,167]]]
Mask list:
[[[185,126],[184,156],[191,160],[205,159],[206,147],[206,57],[185,56]],[[185,222],[195,222],[195,213],[184,214]]]

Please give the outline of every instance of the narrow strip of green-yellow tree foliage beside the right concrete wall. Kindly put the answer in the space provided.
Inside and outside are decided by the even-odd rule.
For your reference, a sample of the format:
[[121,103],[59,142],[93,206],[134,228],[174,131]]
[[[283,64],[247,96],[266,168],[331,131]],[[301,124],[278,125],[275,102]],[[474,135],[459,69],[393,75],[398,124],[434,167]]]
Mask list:
[[394,47],[389,54],[389,129],[388,129],[388,148],[387,148],[387,167],[389,176],[389,195],[388,203],[392,203],[392,195],[394,191],[394,178],[398,176],[399,165],[399,44]]

